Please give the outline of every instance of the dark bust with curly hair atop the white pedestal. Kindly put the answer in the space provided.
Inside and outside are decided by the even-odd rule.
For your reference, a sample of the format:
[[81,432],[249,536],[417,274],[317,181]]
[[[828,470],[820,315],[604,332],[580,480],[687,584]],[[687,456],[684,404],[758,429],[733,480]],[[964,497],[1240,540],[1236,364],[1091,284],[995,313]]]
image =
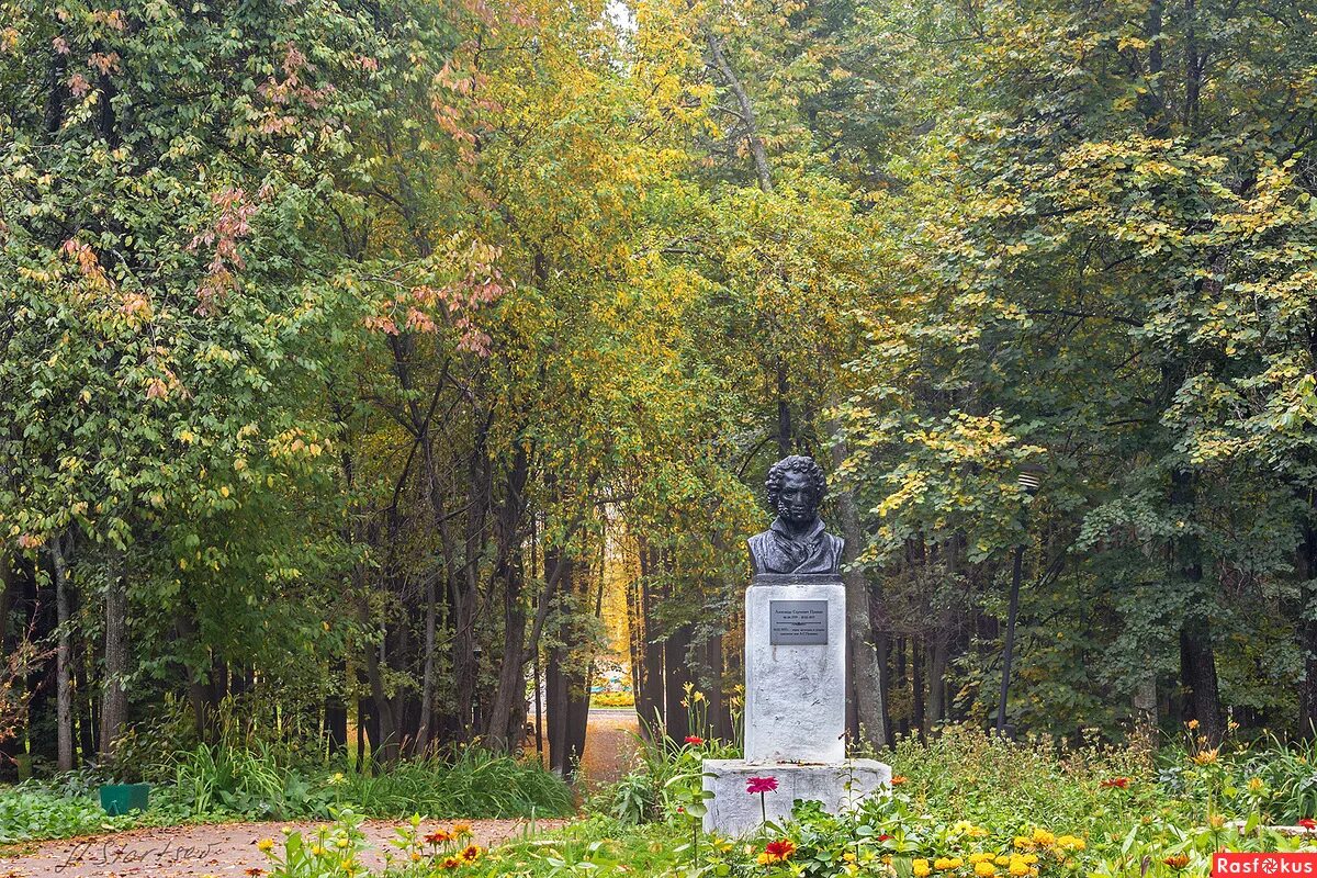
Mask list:
[[755,574],[835,575],[844,541],[827,533],[818,515],[827,490],[823,469],[813,457],[793,454],[769,467],[765,486],[777,519],[748,540]]

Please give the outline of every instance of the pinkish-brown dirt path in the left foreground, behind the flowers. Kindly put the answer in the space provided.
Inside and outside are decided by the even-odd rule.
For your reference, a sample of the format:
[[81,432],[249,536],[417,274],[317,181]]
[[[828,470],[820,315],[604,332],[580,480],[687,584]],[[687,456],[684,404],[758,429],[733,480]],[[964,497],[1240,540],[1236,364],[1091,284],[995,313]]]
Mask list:
[[[394,829],[406,821],[367,820],[362,829],[373,850],[363,857],[373,869],[385,865],[382,852],[391,850]],[[532,831],[561,827],[566,820],[469,820],[475,844],[490,846],[522,839]],[[108,836],[84,836],[62,841],[20,845],[17,857],[0,857],[0,878],[246,878],[249,869],[269,865],[257,849],[261,839],[282,846],[282,829],[313,832],[316,823],[225,823],[204,827],[129,829]],[[452,821],[421,824],[421,833]]]

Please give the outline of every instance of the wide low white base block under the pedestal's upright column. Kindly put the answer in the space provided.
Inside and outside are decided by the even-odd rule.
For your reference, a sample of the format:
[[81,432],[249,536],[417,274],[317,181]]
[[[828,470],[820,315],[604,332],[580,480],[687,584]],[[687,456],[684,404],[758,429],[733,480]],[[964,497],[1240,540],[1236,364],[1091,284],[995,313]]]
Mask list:
[[751,778],[776,778],[777,790],[764,794],[768,819],[781,823],[792,816],[797,799],[822,802],[823,810],[840,813],[867,798],[886,791],[892,767],[876,760],[848,760],[827,765],[795,762],[756,762],[744,760],[705,760],[705,832],[744,836],[764,820],[759,794],[745,792]]

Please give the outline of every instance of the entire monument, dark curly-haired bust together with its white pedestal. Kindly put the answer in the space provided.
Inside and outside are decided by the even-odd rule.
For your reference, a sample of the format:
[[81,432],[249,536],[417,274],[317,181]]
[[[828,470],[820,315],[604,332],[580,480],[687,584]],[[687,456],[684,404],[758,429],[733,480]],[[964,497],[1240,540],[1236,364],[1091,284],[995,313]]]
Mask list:
[[[790,816],[797,799],[853,808],[892,781],[881,762],[846,758],[844,544],[818,515],[823,470],[792,455],[769,469],[766,487],[777,517],[748,541],[745,758],[705,760],[705,831],[731,836],[756,829],[765,812]],[[747,792],[765,787],[763,803]]]

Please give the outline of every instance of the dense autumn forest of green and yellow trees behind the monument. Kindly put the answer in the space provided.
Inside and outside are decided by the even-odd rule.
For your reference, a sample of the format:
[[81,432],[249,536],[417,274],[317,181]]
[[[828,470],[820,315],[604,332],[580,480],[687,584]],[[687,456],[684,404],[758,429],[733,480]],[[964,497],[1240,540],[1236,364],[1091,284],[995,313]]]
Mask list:
[[607,546],[730,737],[786,453],[857,744],[996,721],[1015,582],[1018,731],[1313,733],[1317,4],[0,13],[9,757],[514,749],[533,675],[570,770]]

